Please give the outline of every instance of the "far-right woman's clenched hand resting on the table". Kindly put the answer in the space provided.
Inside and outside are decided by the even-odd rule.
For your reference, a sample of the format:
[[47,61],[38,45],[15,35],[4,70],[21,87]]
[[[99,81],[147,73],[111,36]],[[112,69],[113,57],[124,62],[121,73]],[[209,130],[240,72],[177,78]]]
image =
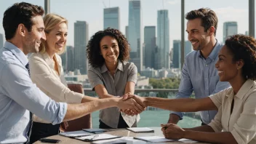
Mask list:
[[180,140],[183,138],[185,130],[177,126],[176,124],[161,124],[161,131],[164,137],[172,140]]

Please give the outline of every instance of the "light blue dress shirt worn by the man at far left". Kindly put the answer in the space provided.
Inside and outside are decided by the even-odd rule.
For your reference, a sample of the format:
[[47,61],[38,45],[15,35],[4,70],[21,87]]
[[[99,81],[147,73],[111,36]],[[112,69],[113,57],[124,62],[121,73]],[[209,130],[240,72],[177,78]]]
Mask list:
[[33,84],[25,65],[28,58],[15,45],[5,42],[0,49],[0,143],[28,140],[29,111],[58,124],[67,111]]

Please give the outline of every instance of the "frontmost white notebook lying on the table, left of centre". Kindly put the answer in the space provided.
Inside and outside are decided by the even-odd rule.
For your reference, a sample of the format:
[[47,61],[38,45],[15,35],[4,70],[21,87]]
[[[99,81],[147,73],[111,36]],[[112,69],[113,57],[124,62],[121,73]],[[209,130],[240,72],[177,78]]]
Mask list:
[[78,140],[83,140],[85,142],[93,142],[97,140],[110,140],[115,138],[120,138],[119,136],[109,135],[109,134],[98,134],[98,135],[88,135],[84,137],[75,137]]

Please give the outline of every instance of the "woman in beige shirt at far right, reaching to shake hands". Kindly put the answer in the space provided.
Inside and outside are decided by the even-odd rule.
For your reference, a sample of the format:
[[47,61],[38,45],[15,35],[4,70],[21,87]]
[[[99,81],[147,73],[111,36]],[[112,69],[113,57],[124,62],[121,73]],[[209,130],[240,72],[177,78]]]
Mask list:
[[201,99],[167,100],[158,97],[137,97],[146,106],[170,111],[218,110],[208,125],[182,129],[176,124],[162,124],[166,138],[187,138],[206,143],[256,143],[256,40],[251,36],[234,35],[225,41],[215,64],[220,81],[231,87]]

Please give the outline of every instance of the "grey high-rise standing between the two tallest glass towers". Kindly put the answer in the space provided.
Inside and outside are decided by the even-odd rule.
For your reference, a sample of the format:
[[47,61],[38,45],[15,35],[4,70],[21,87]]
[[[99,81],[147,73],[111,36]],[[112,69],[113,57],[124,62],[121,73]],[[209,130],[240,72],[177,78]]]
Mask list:
[[156,49],[156,26],[145,26],[143,48],[143,62],[145,62],[145,68],[155,68],[154,51]]

